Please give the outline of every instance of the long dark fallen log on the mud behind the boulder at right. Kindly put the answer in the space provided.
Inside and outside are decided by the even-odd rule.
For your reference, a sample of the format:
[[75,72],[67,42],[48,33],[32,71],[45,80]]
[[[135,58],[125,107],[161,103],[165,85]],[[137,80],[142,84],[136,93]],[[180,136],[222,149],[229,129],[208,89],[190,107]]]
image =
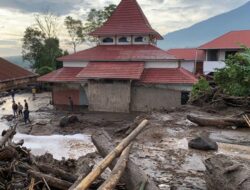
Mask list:
[[202,116],[187,115],[187,119],[199,126],[215,126],[215,127],[247,127],[244,119],[237,118],[205,118]]

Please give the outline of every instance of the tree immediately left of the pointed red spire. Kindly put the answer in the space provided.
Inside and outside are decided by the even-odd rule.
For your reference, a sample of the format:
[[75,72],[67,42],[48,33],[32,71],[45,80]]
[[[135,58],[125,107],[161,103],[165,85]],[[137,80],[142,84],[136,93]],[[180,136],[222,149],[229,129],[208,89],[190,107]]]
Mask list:
[[[103,10],[91,9],[88,13],[87,22],[85,23],[83,30],[85,34],[89,34],[103,25],[104,22],[111,16],[116,9],[116,5],[110,4],[104,7]],[[97,42],[96,38],[87,36],[87,40],[90,42]]]

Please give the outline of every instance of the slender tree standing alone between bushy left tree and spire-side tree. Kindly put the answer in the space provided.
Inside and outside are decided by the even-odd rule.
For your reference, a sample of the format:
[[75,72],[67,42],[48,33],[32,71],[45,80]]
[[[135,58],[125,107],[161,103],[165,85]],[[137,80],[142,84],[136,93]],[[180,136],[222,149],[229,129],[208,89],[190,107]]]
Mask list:
[[73,45],[74,52],[76,52],[76,46],[85,41],[82,21],[75,20],[71,16],[67,16],[64,20],[64,24],[71,38],[71,44]]

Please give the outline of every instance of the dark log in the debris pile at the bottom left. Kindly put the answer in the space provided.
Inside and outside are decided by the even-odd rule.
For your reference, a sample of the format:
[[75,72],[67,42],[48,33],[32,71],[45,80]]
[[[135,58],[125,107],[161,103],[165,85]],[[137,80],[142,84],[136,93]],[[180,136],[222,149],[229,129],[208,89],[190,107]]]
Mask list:
[[72,183],[74,183],[78,178],[78,176],[76,176],[74,174],[65,172],[62,169],[55,168],[55,167],[49,166],[47,164],[37,164],[37,167],[43,173],[53,174],[55,177],[59,177],[59,178],[61,178],[63,180],[66,180],[66,181],[69,181],[69,182],[72,182]]

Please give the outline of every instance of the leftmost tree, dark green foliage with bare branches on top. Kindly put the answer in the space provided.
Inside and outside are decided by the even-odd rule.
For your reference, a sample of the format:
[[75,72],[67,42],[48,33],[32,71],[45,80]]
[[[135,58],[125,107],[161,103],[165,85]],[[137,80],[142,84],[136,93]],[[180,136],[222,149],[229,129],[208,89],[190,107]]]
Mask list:
[[23,37],[23,60],[31,63],[38,74],[46,74],[62,64],[56,58],[64,55],[56,37],[57,21],[53,14],[36,15],[36,24],[25,30]]

